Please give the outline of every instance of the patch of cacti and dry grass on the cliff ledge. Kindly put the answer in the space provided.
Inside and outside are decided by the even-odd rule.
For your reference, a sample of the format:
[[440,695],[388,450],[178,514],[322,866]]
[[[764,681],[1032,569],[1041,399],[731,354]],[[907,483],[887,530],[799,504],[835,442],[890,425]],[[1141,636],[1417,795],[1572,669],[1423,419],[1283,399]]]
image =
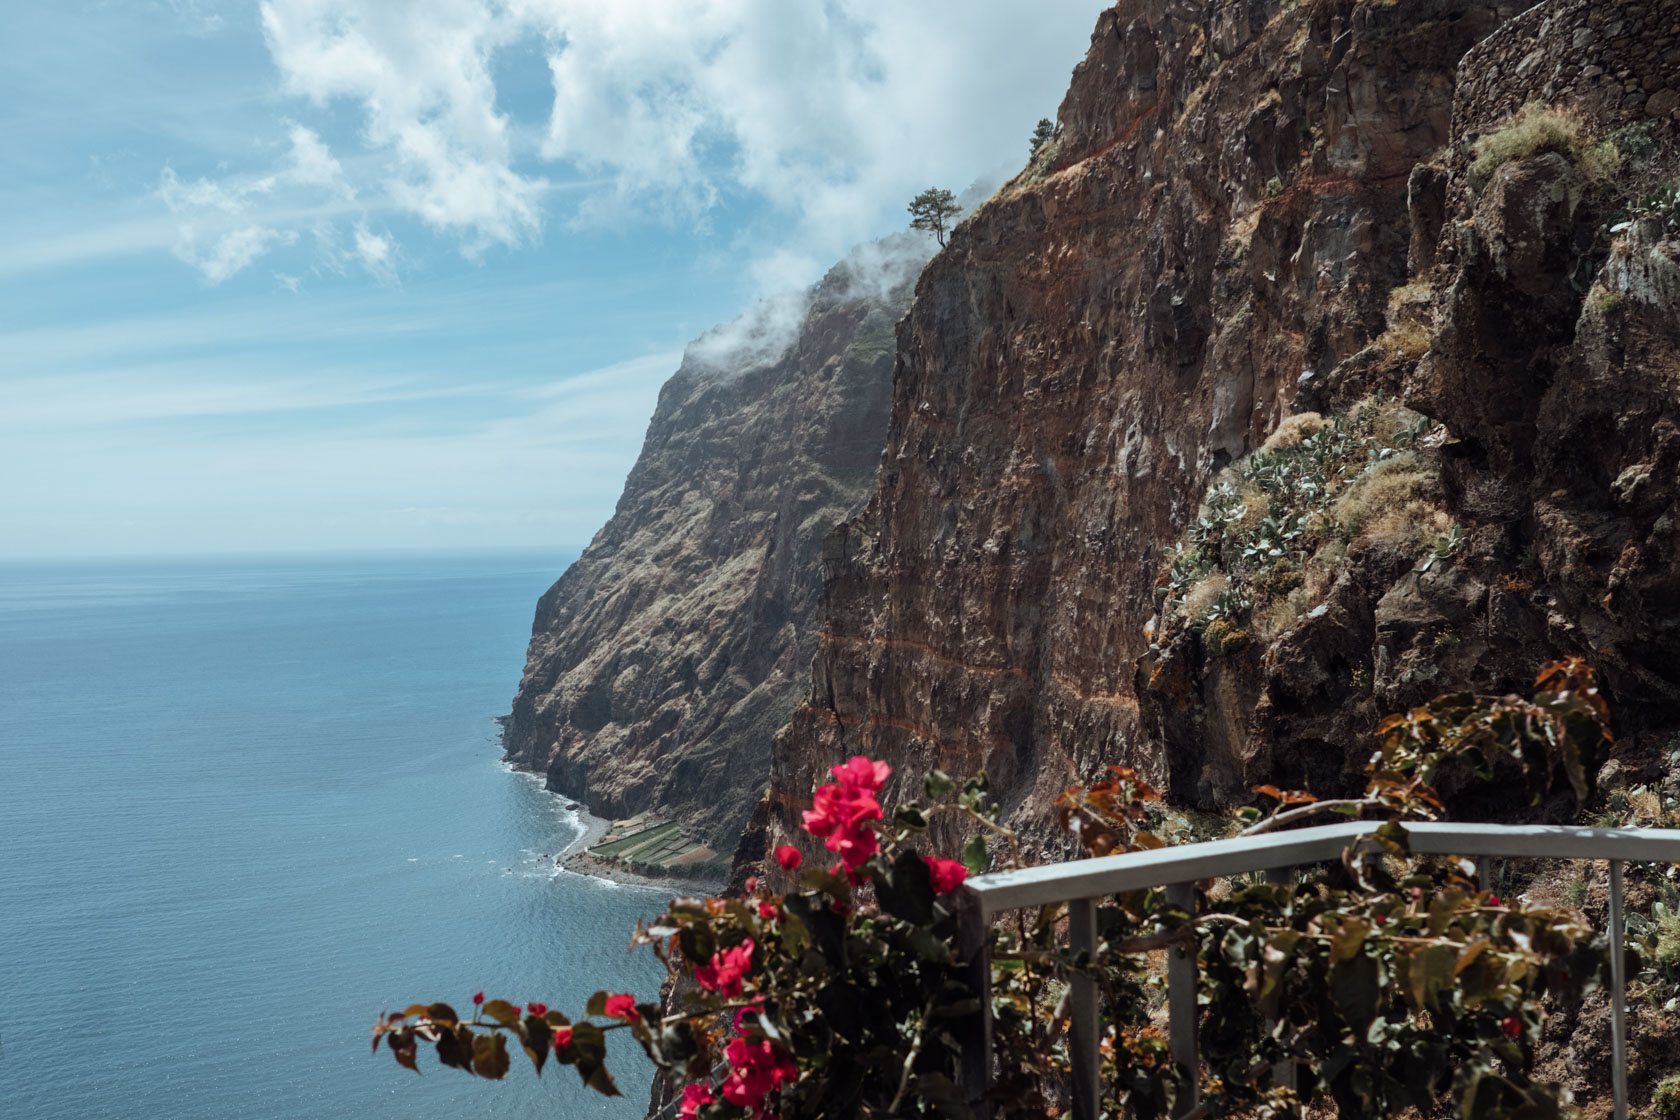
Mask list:
[[[1284,420],[1213,482],[1169,554],[1156,583],[1159,633],[1191,626],[1215,652],[1206,630],[1225,621],[1270,641],[1322,599],[1349,547],[1381,541],[1421,554],[1452,529],[1435,463],[1418,447],[1431,428],[1374,398],[1341,418]],[[1228,650],[1225,635],[1220,653],[1240,648]]]

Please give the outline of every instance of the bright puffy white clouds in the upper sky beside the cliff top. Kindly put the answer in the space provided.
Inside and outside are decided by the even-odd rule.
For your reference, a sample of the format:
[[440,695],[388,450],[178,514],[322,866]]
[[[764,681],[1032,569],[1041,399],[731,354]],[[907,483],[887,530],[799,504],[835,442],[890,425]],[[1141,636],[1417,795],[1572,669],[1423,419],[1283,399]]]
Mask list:
[[[388,279],[407,220],[467,257],[544,227],[706,222],[761,208],[791,255],[759,285],[808,282],[890,228],[929,183],[1025,158],[1055,111],[1097,0],[264,0],[289,151],[255,175],[160,193],[178,255],[210,282],[314,235]],[[509,77],[541,59],[539,89]],[[331,138],[319,121],[353,119]],[[334,217],[338,215],[338,217]],[[348,257],[346,257],[348,254]],[[343,264],[339,265],[343,267]]]

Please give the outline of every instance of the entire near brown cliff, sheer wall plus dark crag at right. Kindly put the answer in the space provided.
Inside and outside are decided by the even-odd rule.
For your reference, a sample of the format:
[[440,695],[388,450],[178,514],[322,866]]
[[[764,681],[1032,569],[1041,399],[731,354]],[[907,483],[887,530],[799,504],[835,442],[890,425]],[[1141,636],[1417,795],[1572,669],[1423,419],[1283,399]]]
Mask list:
[[[811,693],[738,871],[798,841],[853,752],[986,769],[1033,824],[1100,764],[1183,801],[1346,784],[1379,709],[1552,652],[1677,722],[1673,242],[1583,280],[1604,212],[1567,161],[1468,171],[1530,99],[1672,149],[1673,24],[1586,0],[1105,12],[1055,141],[921,275],[877,489],[828,542]],[[1586,285],[1611,316],[1583,317]],[[1292,413],[1368,398],[1421,415],[1347,421],[1410,433],[1396,509],[1420,524],[1341,541],[1317,601],[1210,657],[1158,588],[1210,484]]]

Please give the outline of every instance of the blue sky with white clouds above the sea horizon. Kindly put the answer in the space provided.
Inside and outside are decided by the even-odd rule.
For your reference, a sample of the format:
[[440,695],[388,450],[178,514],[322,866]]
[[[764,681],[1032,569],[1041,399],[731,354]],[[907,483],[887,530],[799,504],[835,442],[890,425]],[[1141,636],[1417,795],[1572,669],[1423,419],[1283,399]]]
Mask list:
[[1020,170],[1102,7],[0,3],[0,557],[581,547],[685,343]]

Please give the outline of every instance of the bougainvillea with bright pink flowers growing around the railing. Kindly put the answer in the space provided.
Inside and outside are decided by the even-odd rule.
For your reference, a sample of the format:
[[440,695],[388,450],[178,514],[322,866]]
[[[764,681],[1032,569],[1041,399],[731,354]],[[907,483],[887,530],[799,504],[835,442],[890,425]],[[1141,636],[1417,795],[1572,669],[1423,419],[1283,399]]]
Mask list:
[[[1194,1115],[1299,1115],[1314,1100],[1369,1117],[1446,1102],[1467,1118],[1567,1113],[1556,1088],[1529,1076],[1534,1044],[1547,1002],[1567,1006],[1608,976],[1604,939],[1571,913],[1477,888],[1463,861],[1413,858],[1403,821],[1443,811],[1428,782],[1455,757],[1483,774],[1494,756],[1509,757],[1536,796],[1556,774],[1584,791],[1604,720],[1579,662],[1547,667],[1532,700],[1441,697],[1381,725],[1362,798],[1257,791],[1275,808],[1248,813],[1248,833],[1319,813],[1389,821],[1341,865],[1284,883],[1201,883],[1193,910],[1159,890],[1105,900],[1095,952],[1065,947],[1058,905],[996,924],[993,1115],[1065,1112],[1075,972],[1102,994],[1104,1108],[1169,1113],[1184,1085],[1159,1021],[1161,950],[1191,947],[1203,1060]],[[832,866],[803,866],[785,845],[773,860],[798,875],[795,890],[753,882],[746,897],[677,898],[635,930],[674,981],[667,1006],[596,992],[571,1019],[480,992],[470,1018],[442,1002],[381,1016],[375,1049],[383,1041],[413,1070],[430,1043],[445,1066],[501,1078],[517,1046],[538,1073],[553,1060],[617,1095],[606,1038],[628,1031],[685,1120],[971,1117],[958,1070],[979,1002],[959,952],[961,885],[993,850],[1023,865],[1020,841],[984,776],[959,786],[934,771],[924,796],[889,816],[885,762],[853,757],[830,774],[803,828],[837,856]],[[1144,828],[1152,801],[1139,774],[1114,767],[1067,791],[1058,819],[1089,855],[1159,848]],[[961,860],[927,853],[936,816],[973,830]]]

